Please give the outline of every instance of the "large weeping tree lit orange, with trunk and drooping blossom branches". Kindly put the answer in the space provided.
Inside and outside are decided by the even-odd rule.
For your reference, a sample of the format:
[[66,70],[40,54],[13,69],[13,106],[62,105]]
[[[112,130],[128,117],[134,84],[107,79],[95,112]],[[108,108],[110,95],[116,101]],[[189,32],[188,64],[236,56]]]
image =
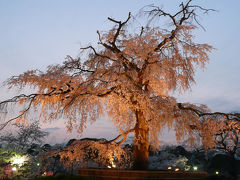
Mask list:
[[[171,96],[189,90],[196,69],[204,69],[209,61],[213,47],[196,43],[192,34],[199,26],[197,13],[209,11],[189,0],[173,14],[155,6],[143,8],[141,14],[148,21],[141,28],[131,13],[124,21],[108,18],[113,27],[97,32],[97,47],[82,48],[78,58],[67,56],[63,64],[49,66],[45,72],[30,70],[7,81],[9,88],[30,86],[35,90],[0,103],[1,109],[11,103],[25,106],[7,122],[27,119],[35,109],[40,119],[61,115],[69,131],[77,128],[82,133],[87,121],[107,113],[120,134],[109,143],[120,144],[134,133],[136,169],[147,168],[149,144],[159,145],[158,137],[166,126],[175,130],[178,141],[183,137],[196,140],[197,129],[203,143],[212,147],[211,132],[221,128],[221,123],[211,118],[205,105],[178,103]],[[160,24],[162,19],[169,25]],[[239,115],[231,118],[239,120]]]

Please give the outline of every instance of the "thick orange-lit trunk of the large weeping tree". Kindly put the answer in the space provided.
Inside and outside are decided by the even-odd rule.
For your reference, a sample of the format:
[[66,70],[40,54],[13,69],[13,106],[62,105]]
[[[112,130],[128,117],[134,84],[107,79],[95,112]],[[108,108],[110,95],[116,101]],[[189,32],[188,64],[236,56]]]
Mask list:
[[133,149],[133,169],[144,170],[148,169],[149,156],[149,128],[145,121],[143,112],[136,112],[136,126],[134,134],[134,149]]

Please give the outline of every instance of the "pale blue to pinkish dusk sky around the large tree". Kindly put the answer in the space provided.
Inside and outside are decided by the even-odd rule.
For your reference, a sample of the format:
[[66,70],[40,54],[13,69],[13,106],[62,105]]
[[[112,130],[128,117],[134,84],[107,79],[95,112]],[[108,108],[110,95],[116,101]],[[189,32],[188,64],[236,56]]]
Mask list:
[[[155,4],[165,10],[178,8],[179,0],[0,0],[0,82],[30,69],[44,70],[47,65],[64,61],[66,55],[77,57],[80,47],[96,44],[97,30],[108,30],[107,17],[124,20],[128,12],[136,14],[145,5]],[[216,48],[204,71],[197,71],[196,84],[180,102],[207,104],[212,111],[240,111],[240,1],[195,0],[206,8],[216,9],[199,20],[196,40]],[[1,88],[0,101],[10,98]],[[102,119],[105,119],[104,117]],[[82,137],[112,138],[117,133],[110,120],[99,120]],[[52,132],[49,142],[62,137],[62,121],[45,124]],[[168,135],[165,134],[163,141]]]

